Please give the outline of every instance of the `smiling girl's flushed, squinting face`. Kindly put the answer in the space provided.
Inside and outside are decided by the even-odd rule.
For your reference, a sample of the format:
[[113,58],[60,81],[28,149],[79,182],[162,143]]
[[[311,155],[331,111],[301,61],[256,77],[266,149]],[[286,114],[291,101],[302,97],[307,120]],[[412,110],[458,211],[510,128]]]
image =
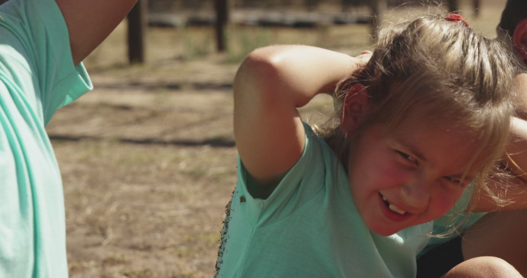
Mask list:
[[448,212],[474,178],[474,170],[463,173],[475,145],[461,128],[421,125],[391,133],[380,124],[367,128],[348,163],[350,188],[366,226],[391,235]]

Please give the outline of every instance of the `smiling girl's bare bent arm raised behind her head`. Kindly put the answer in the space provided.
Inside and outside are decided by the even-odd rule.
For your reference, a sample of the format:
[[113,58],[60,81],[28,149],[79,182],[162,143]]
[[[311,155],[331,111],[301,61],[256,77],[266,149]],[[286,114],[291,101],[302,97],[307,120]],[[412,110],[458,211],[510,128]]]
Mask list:
[[305,133],[297,107],[365,65],[323,48],[279,45],[256,49],[233,85],[234,133],[243,165],[257,184],[276,184],[300,157]]

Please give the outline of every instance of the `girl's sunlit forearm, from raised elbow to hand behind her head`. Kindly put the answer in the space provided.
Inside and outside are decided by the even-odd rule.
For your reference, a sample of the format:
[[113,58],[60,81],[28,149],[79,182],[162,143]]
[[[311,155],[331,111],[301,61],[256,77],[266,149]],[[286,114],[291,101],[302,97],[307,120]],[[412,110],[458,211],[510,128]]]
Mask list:
[[357,70],[357,60],[312,46],[268,46],[249,54],[240,67],[240,71],[248,74],[238,76],[257,78],[261,90],[254,93],[265,94],[260,97],[283,98],[295,107],[301,107],[317,94],[333,93],[338,81]]

